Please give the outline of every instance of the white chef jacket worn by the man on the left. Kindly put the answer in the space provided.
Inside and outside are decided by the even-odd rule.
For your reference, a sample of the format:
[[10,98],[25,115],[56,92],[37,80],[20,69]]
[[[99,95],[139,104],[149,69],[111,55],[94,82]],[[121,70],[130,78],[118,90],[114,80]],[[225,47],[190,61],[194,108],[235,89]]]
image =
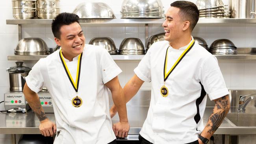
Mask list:
[[[76,81],[78,56],[65,62]],[[85,44],[78,87],[82,105],[74,107],[71,100],[76,91],[61,63],[59,50],[33,66],[26,83],[34,92],[47,87],[52,96],[57,131],[60,131],[54,144],[108,144],[115,140],[108,88],[104,84],[121,72],[107,50]]]

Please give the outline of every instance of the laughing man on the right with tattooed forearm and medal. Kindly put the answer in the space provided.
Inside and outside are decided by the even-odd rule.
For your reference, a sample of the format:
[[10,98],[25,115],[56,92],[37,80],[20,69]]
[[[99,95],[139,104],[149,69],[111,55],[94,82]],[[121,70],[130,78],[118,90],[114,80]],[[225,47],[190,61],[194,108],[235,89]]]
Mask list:
[[[165,14],[165,41],[155,42],[124,86],[128,102],[144,81],[151,81],[151,102],[140,131],[141,144],[206,144],[230,108],[229,92],[216,57],[191,36],[199,11],[176,1]],[[206,93],[215,101],[206,126]],[[116,113],[115,105],[111,116]]]

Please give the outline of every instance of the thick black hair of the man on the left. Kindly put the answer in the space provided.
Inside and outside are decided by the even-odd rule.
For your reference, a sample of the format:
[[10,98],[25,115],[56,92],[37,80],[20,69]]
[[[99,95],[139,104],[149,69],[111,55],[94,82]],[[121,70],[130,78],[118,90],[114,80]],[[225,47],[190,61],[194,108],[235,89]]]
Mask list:
[[74,13],[60,13],[52,20],[52,33],[54,37],[60,39],[60,28],[63,25],[70,25],[74,22],[79,24],[79,17]]

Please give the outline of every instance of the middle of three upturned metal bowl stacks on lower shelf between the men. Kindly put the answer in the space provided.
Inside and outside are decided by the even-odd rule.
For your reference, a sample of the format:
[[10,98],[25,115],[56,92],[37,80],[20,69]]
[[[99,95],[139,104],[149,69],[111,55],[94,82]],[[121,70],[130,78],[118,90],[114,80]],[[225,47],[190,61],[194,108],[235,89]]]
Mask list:
[[120,55],[144,55],[145,48],[138,38],[125,38],[119,46]]

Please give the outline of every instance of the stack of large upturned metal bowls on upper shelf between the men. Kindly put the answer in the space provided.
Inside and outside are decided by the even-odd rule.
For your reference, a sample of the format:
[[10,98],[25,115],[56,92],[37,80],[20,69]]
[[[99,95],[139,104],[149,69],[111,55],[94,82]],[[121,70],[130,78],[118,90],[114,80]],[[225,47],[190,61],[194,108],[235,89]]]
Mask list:
[[163,18],[161,0],[124,0],[121,18]]

